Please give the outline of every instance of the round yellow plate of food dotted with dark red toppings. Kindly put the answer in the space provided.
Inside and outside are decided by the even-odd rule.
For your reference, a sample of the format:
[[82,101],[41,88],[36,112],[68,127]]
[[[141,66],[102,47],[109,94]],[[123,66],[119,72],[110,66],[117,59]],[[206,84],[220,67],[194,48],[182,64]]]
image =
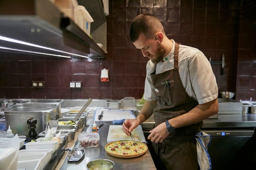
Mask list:
[[[121,146],[121,142],[124,142],[125,144]],[[137,145],[133,146],[133,142],[134,141],[129,140],[113,141],[105,146],[105,151],[108,154],[118,158],[134,158],[146,153],[146,151],[148,150],[148,146],[146,146],[145,143],[136,141]],[[114,151],[111,151],[111,148],[114,148],[115,145],[118,146],[118,148],[115,148]],[[126,147],[129,147],[130,149],[126,149]],[[137,152],[134,152],[135,149],[137,150]]]

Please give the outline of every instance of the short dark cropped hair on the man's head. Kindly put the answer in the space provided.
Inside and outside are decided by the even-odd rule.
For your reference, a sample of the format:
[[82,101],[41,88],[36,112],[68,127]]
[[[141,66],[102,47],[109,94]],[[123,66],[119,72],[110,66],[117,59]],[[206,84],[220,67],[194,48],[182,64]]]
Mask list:
[[133,19],[130,27],[130,40],[135,42],[140,33],[143,33],[146,38],[155,38],[155,33],[162,32],[164,34],[164,27],[161,22],[150,14],[140,14]]

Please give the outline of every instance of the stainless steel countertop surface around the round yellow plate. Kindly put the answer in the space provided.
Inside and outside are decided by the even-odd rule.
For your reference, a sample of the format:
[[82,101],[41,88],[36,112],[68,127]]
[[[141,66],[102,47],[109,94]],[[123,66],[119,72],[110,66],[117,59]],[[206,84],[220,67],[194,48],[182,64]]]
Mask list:
[[[87,117],[87,123],[81,132],[91,132],[93,124],[93,116]],[[149,150],[139,157],[135,158],[117,158],[106,153],[105,146],[107,145],[107,135],[109,126],[112,125],[111,121],[103,121],[104,125],[98,129],[98,134],[100,135],[99,146],[96,148],[85,148],[85,156],[78,162],[68,162],[65,158],[60,170],[78,170],[86,169],[86,164],[93,159],[109,159],[115,163],[114,169],[116,170],[156,170],[153,159],[150,155]],[[77,140],[74,148],[79,147],[79,141]],[[139,165],[139,166],[138,166]]]

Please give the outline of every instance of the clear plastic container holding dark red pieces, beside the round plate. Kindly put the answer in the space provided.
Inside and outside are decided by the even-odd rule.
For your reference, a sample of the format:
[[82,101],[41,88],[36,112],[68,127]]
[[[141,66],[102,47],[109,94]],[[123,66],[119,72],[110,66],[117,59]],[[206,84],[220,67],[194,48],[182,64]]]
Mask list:
[[80,148],[95,148],[98,147],[100,136],[98,132],[80,133],[78,140]]

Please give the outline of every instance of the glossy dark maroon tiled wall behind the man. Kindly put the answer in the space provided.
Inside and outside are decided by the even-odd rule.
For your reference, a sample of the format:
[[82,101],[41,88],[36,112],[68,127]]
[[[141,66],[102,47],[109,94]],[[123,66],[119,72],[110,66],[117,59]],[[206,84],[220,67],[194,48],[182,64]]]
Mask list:
[[[170,39],[193,46],[213,62],[219,91],[234,91],[236,99],[256,98],[254,0],[110,0],[105,61],[51,58],[0,52],[0,98],[141,98],[147,59],[129,40],[135,16],[150,13],[160,19]],[[101,69],[110,81],[100,81]],[[31,87],[43,80],[46,87]],[[82,81],[70,89],[70,81]]]

